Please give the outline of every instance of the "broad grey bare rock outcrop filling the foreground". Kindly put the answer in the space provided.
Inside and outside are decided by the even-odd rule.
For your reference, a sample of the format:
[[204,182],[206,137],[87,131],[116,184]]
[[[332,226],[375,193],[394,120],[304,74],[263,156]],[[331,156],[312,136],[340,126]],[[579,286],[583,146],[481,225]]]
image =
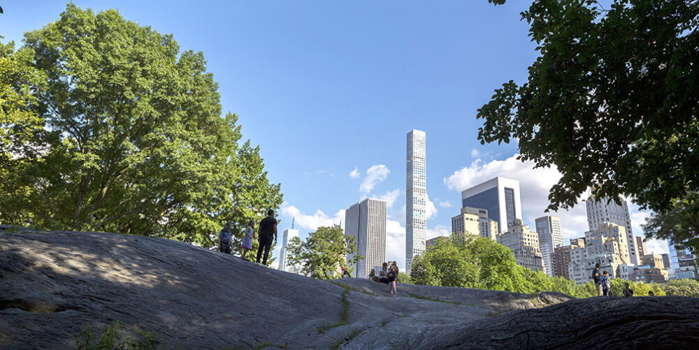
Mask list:
[[163,349],[699,344],[695,298],[575,300],[403,284],[398,294],[389,297],[386,284],[319,281],[171,240],[0,226],[0,349],[73,349],[82,328],[99,333],[115,321],[150,331]]

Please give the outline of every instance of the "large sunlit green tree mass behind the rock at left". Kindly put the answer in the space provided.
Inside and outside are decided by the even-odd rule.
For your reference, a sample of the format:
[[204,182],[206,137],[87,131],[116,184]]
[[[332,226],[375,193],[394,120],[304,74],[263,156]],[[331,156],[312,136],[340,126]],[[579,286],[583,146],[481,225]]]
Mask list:
[[[0,221],[210,247],[223,221],[240,238],[248,219],[280,205],[259,147],[240,144],[236,115],[222,117],[203,54],[180,52],[171,35],[69,3],[23,48],[1,51],[20,67],[10,81],[19,97],[0,87],[2,110],[35,115],[47,132],[34,141],[42,152],[11,168],[15,186],[31,191],[3,188]],[[13,120],[0,120],[3,138]]]

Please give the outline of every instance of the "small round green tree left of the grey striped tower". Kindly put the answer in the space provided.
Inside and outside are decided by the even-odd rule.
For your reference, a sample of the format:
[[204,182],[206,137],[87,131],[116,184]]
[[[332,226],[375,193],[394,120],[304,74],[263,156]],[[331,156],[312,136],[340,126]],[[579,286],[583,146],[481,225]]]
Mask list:
[[[287,261],[289,264],[301,264],[304,275],[332,279],[340,277],[336,273],[339,273],[341,266],[349,272],[354,270],[347,266],[345,258],[356,252],[354,237],[344,235],[340,225],[323,226],[309,233],[303,241],[298,237],[292,238],[287,244]],[[356,263],[361,258],[363,256],[356,254],[349,263]]]

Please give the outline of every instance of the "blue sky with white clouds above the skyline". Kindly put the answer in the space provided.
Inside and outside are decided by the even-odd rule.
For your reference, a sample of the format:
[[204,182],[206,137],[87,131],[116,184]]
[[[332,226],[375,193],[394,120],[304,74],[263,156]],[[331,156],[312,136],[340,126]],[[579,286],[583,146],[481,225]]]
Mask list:
[[[282,184],[280,228],[294,216],[301,237],[338,222],[340,210],[361,198],[387,198],[393,201],[387,259],[404,261],[410,129],[426,131],[427,191],[435,207],[428,237],[448,232],[461,189],[497,175],[522,182],[524,219],[533,227],[557,180],[554,169],[532,170],[514,159],[517,145],[477,140],[477,108],[503,82],[524,82],[538,56],[519,16],[528,1],[73,3],[117,8],[127,20],[173,34],[182,50],[204,53],[223,110],[240,116],[243,136],[261,145],[270,179]],[[65,3],[2,6],[0,35],[20,42],[24,31],[56,20]],[[641,235],[647,214],[632,208],[634,233]],[[584,206],[559,214],[566,239],[583,235]],[[652,243],[649,250],[667,246]]]

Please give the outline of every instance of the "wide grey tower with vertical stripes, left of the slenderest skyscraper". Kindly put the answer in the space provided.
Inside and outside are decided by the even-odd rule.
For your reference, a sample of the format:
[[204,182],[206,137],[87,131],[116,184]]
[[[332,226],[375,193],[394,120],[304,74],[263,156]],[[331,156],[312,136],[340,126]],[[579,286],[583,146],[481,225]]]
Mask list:
[[[366,198],[345,210],[345,235],[354,237],[359,259],[352,268],[354,276],[366,278],[370,270],[386,261],[386,211],[385,200]],[[347,261],[355,254],[348,254]]]

